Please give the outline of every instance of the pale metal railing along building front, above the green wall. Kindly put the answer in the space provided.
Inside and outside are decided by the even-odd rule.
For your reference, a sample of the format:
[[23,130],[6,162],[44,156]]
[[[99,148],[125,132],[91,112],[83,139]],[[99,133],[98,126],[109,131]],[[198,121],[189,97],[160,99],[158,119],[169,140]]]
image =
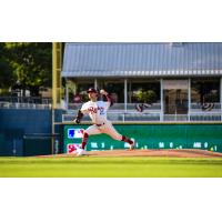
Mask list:
[[[164,114],[159,103],[145,108],[142,112],[135,109],[135,104],[128,104],[128,110],[123,108],[123,103],[117,103],[110,108],[108,119],[114,122],[218,122],[222,121],[221,104],[215,103],[212,109],[205,110],[200,104],[192,103],[190,111],[185,114]],[[77,115],[77,110],[81,104],[77,104],[74,110],[68,110],[67,114],[62,115],[63,122],[73,121]],[[82,122],[90,121],[85,115]]]

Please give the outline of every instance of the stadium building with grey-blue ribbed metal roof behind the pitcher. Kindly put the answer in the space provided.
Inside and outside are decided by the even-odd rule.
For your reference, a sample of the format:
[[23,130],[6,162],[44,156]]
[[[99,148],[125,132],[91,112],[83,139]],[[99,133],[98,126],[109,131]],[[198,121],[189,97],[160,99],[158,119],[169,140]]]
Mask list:
[[113,121],[222,120],[222,43],[65,43],[62,77],[68,110],[94,87]]

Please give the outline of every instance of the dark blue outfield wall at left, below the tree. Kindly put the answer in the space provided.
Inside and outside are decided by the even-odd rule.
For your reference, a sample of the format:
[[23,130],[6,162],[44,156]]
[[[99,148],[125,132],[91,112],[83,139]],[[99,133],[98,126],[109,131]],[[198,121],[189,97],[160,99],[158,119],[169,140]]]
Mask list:
[[[50,134],[51,114],[51,110],[43,109],[0,109],[0,155],[21,157],[26,154],[27,138],[24,135]],[[57,121],[59,121],[58,115],[61,113],[56,112]],[[37,152],[41,149],[41,144],[38,141],[33,142]]]

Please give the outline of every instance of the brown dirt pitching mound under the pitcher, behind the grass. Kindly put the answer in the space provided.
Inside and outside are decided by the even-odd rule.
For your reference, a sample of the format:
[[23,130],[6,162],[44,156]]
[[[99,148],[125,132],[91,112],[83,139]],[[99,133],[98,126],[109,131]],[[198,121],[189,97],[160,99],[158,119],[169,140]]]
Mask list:
[[222,158],[222,153],[196,149],[158,149],[158,150],[109,150],[90,151],[90,157],[169,157],[169,158]]

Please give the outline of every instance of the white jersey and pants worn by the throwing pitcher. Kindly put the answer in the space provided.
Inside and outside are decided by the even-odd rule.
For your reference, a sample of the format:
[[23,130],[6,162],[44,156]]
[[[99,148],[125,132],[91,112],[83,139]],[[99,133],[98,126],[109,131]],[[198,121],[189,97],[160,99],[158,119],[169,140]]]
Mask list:
[[93,122],[93,125],[89,127],[85,132],[89,135],[107,133],[115,140],[122,140],[122,135],[117,132],[112,127],[112,123],[107,119],[107,111],[110,108],[110,102],[97,101],[97,102],[85,102],[81,112],[83,114],[88,113]]

